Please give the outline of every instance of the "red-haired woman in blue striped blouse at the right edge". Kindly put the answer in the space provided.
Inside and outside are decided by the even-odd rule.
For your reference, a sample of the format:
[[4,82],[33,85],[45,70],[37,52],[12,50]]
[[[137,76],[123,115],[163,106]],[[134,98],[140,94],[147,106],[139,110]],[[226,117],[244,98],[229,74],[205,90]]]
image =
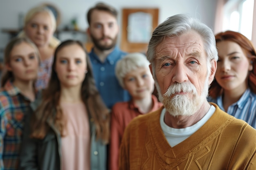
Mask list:
[[256,128],[256,51],[244,35],[225,31],[215,35],[218,62],[209,88],[209,102]]

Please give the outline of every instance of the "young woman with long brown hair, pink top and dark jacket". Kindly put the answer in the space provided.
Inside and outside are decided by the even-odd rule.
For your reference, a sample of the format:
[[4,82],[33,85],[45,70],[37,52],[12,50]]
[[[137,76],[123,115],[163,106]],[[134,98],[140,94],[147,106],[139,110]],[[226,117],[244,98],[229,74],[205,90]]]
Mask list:
[[30,132],[23,141],[22,170],[106,169],[109,110],[81,42],[57,47],[49,86],[25,130]]

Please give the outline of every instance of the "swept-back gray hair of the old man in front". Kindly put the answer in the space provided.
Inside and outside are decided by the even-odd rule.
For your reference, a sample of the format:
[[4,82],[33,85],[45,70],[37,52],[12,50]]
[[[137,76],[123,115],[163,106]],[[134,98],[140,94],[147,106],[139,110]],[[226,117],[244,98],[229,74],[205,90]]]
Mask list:
[[167,18],[162,24],[159,24],[153,31],[152,37],[148,44],[147,58],[152,64],[153,76],[155,77],[156,47],[164,38],[173,38],[182,35],[188,31],[196,31],[202,37],[204,42],[204,50],[207,54],[207,71],[210,73],[211,60],[218,60],[218,52],[216,49],[216,41],[213,31],[204,23],[196,18],[192,18],[186,14],[173,15]]

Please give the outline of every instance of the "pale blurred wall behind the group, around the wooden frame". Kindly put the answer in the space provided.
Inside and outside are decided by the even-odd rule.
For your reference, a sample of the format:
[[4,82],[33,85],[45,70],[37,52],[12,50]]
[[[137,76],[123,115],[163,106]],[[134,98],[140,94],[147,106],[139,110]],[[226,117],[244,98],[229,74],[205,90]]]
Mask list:
[[[88,26],[85,14],[98,0],[0,0],[0,30],[3,28],[18,28],[18,15],[25,14],[31,7],[50,2],[61,11],[62,22],[60,28],[70,23],[74,16],[78,16],[80,29]],[[119,11],[118,22],[121,26],[122,8],[159,8],[159,23],[171,15],[189,13],[214,28],[216,0],[101,0],[111,4]],[[120,38],[120,36],[119,36]],[[9,40],[6,33],[0,32],[0,49],[4,48]]]

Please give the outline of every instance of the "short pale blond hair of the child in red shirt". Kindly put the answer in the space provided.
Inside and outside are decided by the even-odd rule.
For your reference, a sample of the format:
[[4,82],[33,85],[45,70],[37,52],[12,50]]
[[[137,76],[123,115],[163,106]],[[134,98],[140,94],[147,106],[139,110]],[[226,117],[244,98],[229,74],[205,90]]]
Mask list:
[[[129,53],[117,62],[115,74],[119,84],[124,88],[124,77],[131,71],[139,67],[145,67],[149,70],[149,61],[142,53]],[[151,74],[150,74],[151,75]]]

